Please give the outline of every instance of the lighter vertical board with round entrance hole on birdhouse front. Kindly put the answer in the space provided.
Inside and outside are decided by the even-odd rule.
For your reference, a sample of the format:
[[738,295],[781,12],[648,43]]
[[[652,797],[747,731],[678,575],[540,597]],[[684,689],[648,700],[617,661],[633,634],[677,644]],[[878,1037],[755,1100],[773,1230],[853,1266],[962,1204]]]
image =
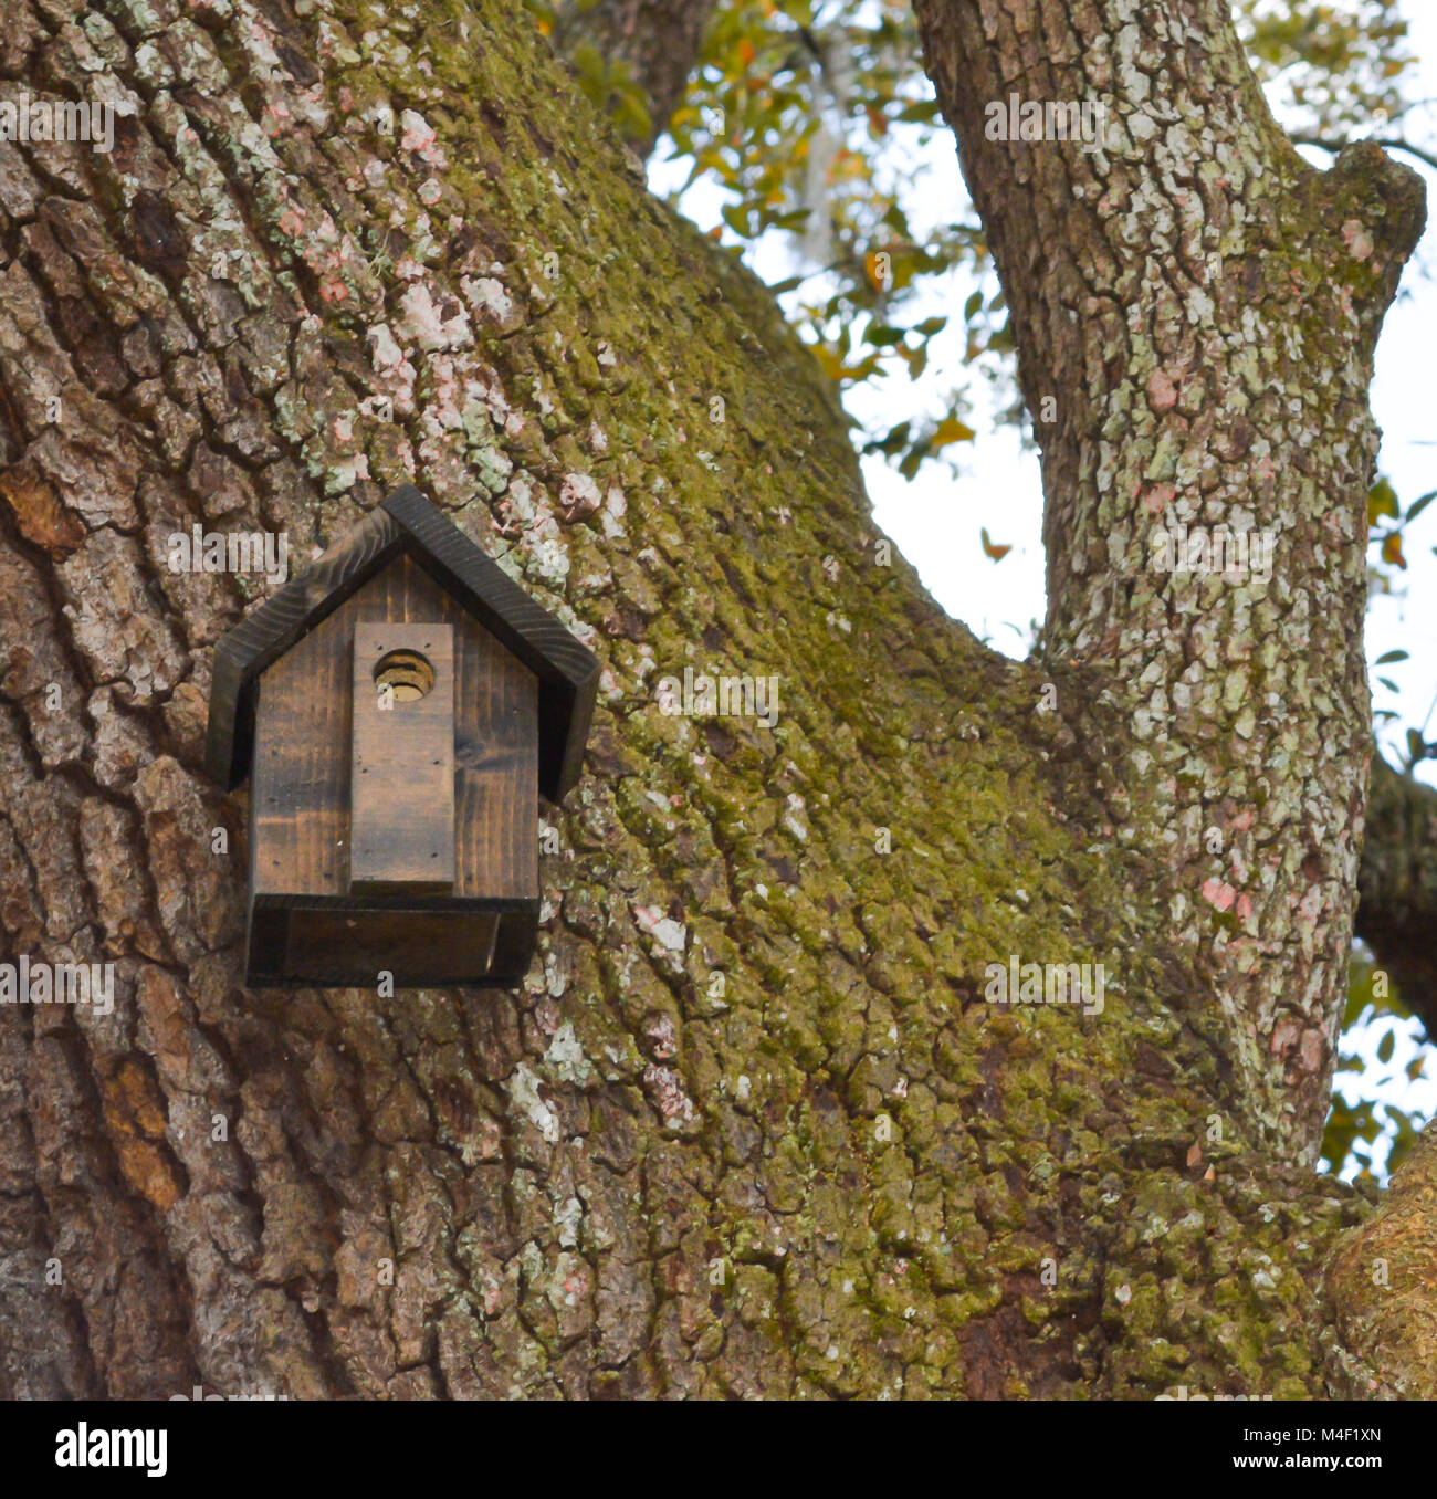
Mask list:
[[[408,702],[376,685],[396,652],[429,669]],[[351,670],[349,889],[454,889],[454,627],[358,621]],[[469,684],[471,694],[478,684]],[[261,741],[264,744],[264,741]]]

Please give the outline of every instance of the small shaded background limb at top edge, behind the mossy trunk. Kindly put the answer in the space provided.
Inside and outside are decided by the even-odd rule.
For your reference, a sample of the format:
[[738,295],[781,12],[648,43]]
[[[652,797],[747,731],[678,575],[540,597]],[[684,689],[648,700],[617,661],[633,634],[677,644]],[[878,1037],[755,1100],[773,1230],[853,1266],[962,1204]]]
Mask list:
[[554,6],[554,46],[572,57],[592,46],[608,63],[625,63],[649,102],[647,156],[668,129],[718,0],[560,0]]

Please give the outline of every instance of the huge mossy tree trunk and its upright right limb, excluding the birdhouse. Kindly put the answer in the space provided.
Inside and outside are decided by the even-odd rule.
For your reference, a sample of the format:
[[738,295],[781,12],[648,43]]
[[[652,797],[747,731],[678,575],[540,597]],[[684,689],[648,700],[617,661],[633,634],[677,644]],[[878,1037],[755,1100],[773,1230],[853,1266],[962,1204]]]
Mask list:
[[[960,39],[974,97],[1038,55],[1131,51],[1143,70],[1113,87],[1211,73],[1247,100],[1205,7],[1164,7],[1131,48],[1115,16],[1079,46],[1058,9],[1046,54],[995,7],[926,15],[1035,340],[1028,390],[1043,351],[1068,372],[1047,481],[1070,664],[1041,712],[1058,669],[986,651],[884,565],[811,355],[646,193],[518,7],[4,7],[7,93],[123,118],[108,156],[0,145],[0,923],[7,955],[117,971],[111,1013],[0,1006],[0,1394],[1401,1384],[1382,1327],[1356,1351],[1335,1331],[1323,1265],[1370,1202],[1307,1151],[1364,773],[1359,634],[1334,616],[1356,607],[1362,372],[1415,210],[1376,157],[1308,177],[1263,117],[1209,141],[1205,109],[1185,162],[1181,135],[1161,163],[1119,153],[1071,222],[1043,217],[1047,157],[1008,157],[1001,192],[975,165]],[[1206,196],[1152,198],[1155,165]],[[1361,262],[1332,244],[1347,219]],[[1184,298],[1214,277],[1214,327],[1251,312],[1236,346],[1149,276],[1160,232]],[[1197,382],[1178,415],[1142,405],[1160,357]],[[1242,370],[1239,432],[1211,414]],[[1100,439],[1104,402],[1127,426]],[[1265,456],[1245,502],[1313,549],[1281,555],[1289,634],[1260,646],[1236,592],[1199,610],[1121,547],[1110,582],[1098,567],[1131,463],[1172,484],[1203,442],[1254,483]],[[246,992],[244,797],[201,766],[211,648],[262,585],[169,571],[168,537],[282,531],[300,564],[411,478],[604,660],[584,778],[544,809],[539,955],[514,992]],[[1173,652],[1200,666],[1214,642],[1239,685],[1266,663],[1280,714],[1229,711],[1205,678],[1172,724],[1119,715],[1139,658],[1176,702]],[[776,723],[662,712],[658,679],[689,666],[776,676]],[[1232,847],[1268,889],[1271,928],[1226,949],[1214,917],[1193,928],[1196,893],[1155,898],[1175,860],[1197,878],[1208,818],[1251,823]],[[1106,964],[1101,1013],[986,1003],[1010,956]],[[1289,1012],[1317,1055],[1278,1043]]]

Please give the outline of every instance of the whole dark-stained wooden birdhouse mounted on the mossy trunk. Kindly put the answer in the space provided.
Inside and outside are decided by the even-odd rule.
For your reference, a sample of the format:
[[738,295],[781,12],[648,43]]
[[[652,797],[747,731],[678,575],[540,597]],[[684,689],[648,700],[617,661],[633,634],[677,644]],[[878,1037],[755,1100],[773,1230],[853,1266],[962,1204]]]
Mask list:
[[408,484],[235,625],[207,766],[250,778],[246,982],[517,983],[598,673]]

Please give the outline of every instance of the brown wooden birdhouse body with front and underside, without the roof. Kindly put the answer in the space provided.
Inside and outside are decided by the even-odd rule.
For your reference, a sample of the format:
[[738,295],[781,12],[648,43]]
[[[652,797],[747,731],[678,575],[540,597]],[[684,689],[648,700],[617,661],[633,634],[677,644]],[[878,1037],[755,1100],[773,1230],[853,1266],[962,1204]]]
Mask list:
[[538,905],[533,672],[399,556],[256,688],[250,982],[506,977],[505,916]]

